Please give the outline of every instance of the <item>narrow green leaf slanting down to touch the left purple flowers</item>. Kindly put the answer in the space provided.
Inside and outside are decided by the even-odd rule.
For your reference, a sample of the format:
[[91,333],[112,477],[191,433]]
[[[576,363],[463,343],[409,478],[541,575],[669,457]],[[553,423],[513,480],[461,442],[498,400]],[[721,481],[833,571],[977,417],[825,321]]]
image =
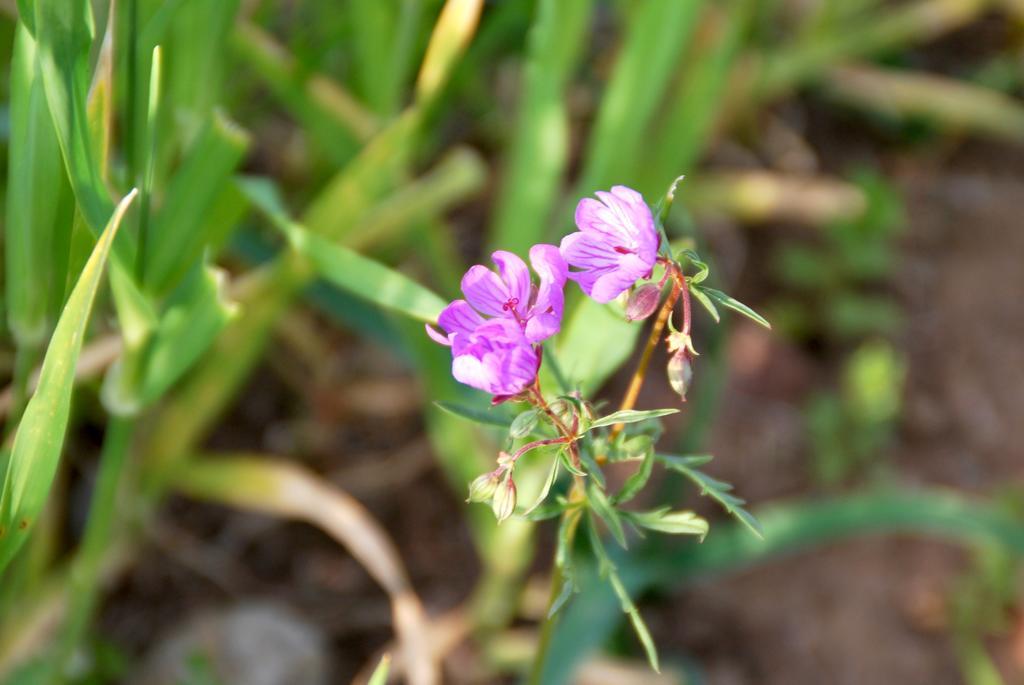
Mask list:
[[447,304],[436,294],[409,276],[291,221],[283,212],[281,201],[268,195],[273,192],[272,186],[247,182],[244,190],[285,233],[295,251],[330,283],[386,309],[436,323]]

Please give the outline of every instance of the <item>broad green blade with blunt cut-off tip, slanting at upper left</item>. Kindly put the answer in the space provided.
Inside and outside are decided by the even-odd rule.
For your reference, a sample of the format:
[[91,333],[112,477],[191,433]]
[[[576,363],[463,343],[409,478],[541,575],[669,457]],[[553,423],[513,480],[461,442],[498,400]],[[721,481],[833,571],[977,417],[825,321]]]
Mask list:
[[[153,222],[146,249],[146,289],[164,294],[197,262],[208,246],[213,208],[249,147],[249,135],[214,111],[175,172]],[[218,217],[220,218],[220,217]]]

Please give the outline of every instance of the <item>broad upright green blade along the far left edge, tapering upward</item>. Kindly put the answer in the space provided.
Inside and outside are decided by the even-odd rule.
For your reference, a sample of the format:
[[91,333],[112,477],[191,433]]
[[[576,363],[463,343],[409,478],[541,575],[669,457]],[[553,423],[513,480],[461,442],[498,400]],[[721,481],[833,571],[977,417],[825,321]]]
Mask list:
[[37,345],[63,303],[74,198],[36,58],[18,24],[10,82],[6,192],[7,322],[20,345]]

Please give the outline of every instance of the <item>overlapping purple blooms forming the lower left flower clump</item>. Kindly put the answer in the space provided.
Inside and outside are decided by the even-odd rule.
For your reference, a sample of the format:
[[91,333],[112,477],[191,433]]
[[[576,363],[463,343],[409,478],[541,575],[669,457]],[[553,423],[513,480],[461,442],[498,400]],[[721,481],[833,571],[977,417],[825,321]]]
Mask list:
[[456,380],[495,395],[515,395],[537,377],[541,356],[535,343],[561,328],[568,268],[555,246],[535,245],[529,250],[540,275],[535,288],[522,259],[501,250],[492,259],[498,273],[480,264],[466,271],[466,299],[452,302],[437,317],[444,334],[429,326],[427,334],[452,347]]

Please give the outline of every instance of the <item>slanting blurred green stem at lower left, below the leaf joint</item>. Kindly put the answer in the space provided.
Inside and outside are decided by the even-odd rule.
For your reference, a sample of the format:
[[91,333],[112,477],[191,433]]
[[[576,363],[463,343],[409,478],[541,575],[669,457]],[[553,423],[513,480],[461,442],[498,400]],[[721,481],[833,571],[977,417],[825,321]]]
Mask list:
[[126,417],[113,417],[106,427],[85,537],[72,562],[67,619],[57,641],[56,658],[51,661],[51,668],[57,671],[56,675],[63,670],[82,641],[96,606],[99,571],[114,529],[117,494],[133,428],[133,420]]

